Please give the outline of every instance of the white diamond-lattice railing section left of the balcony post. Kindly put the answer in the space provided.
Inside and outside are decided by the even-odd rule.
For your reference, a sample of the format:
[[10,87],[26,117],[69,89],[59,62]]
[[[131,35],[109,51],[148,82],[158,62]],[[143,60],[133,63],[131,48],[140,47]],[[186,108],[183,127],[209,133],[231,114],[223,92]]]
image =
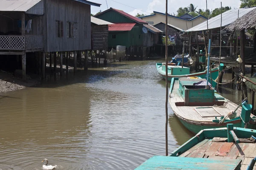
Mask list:
[[25,36],[0,35],[0,50],[25,50]]

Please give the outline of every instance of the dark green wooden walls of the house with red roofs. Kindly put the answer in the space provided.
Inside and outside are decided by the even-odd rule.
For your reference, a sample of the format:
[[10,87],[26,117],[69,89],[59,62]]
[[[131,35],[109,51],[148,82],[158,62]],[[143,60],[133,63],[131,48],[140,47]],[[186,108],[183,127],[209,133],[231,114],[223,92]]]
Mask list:
[[[111,22],[111,23],[136,23],[127,17],[115,12],[107,11],[103,14],[96,16],[99,19]],[[116,45],[123,45],[126,48],[130,46],[142,46],[143,45],[143,24],[138,24],[131,29],[131,31],[111,31],[108,33],[108,46],[115,47]],[[112,35],[116,35],[113,39]]]

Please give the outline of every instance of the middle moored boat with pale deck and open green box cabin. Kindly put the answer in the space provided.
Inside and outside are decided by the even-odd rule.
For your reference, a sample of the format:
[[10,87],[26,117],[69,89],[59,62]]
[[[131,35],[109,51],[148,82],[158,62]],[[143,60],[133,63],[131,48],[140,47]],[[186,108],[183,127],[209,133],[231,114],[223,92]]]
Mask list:
[[249,107],[243,102],[240,106],[230,102],[207,86],[206,79],[188,78],[172,79],[169,104],[189,131],[198,133],[203,129],[225,127],[228,123],[255,129],[256,117],[250,113],[251,105]]

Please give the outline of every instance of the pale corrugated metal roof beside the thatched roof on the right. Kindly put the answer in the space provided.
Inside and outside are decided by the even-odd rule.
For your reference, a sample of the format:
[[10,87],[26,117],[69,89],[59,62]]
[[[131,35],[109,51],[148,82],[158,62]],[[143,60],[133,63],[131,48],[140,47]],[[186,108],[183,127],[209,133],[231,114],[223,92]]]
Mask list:
[[[222,13],[222,26],[224,27],[224,26],[227,26],[227,25],[233,23],[238,17],[238,11],[239,11],[239,17],[242,17],[243,15],[252,11],[253,9],[256,9],[256,7],[230,9],[229,11]],[[218,28],[220,26],[221,26],[221,14],[208,20],[209,29]],[[186,32],[203,31],[203,30],[207,30],[207,22],[206,21],[204,23],[201,23],[201,24],[193,27],[193,28],[186,30]]]

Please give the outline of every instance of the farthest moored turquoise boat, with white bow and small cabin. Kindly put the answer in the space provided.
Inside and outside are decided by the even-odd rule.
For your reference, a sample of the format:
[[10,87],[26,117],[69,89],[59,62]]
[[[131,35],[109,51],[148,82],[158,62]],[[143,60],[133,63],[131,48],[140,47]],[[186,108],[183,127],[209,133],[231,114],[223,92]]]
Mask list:
[[[157,71],[162,75],[163,79],[166,78],[166,65],[165,63],[156,63]],[[222,70],[222,66],[220,69]],[[212,79],[216,79],[218,77],[218,68],[211,70]],[[178,66],[178,65],[168,65],[168,81],[172,81],[174,77],[201,77],[205,78],[207,71],[202,71],[198,73],[190,74],[190,68]],[[209,78],[210,79],[210,78]],[[209,80],[209,82],[211,82]],[[213,87],[215,87],[216,83],[212,82]]]

